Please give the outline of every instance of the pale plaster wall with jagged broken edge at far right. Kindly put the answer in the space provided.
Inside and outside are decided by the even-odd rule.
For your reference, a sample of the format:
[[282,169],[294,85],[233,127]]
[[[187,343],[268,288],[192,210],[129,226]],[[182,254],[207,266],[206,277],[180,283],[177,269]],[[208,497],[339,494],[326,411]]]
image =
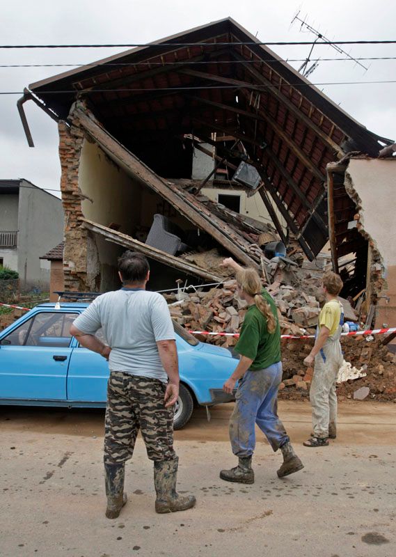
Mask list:
[[345,187],[358,207],[358,229],[367,237],[373,254],[369,281],[378,311],[376,326],[396,325],[396,242],[394,159],[352,158]]

